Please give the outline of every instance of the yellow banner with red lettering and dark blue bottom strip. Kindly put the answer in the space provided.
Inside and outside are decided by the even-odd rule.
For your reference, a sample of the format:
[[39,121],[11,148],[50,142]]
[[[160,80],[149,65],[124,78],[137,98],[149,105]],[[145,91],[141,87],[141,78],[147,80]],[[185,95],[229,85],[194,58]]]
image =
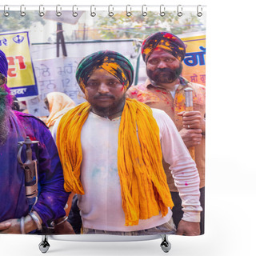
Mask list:
[[8,87],[17,97],[38,95],[30,57],[28,32],[0,34],[0,49],[8,60]]

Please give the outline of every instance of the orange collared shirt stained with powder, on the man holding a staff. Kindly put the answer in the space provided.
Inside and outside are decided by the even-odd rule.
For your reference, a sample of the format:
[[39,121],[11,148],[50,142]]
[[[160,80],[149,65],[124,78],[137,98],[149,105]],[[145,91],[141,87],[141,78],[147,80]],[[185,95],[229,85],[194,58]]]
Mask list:
[[[166,114],[174,121],[178,131],[182,130],[182,117],[178,116],[179,112],[185,111],[185,92],[184,89],[190,87],[193,89],[193,109],[200,111],[202,118],[205,118],[206,114],[206,87],[188,82],[185,78],[180,78],[180,84],[173,98],[170,91],[163,87],[153,86],[149,79],[145,84],[138,86],[131,86],[127,91],[129,98],[136,98],[139,102],[144,102],[151,108],[164,110]],[[200,176],[200,188],[205,186],[205,136],[202,137],[200,145],[195,146],[195,162],[198,168]],[[178,192],[174,185],[174,179],[172,178],[169,170],[169,165],[163,162],[163,167],[166,171],[167,182],[170,187],[170,191]]]

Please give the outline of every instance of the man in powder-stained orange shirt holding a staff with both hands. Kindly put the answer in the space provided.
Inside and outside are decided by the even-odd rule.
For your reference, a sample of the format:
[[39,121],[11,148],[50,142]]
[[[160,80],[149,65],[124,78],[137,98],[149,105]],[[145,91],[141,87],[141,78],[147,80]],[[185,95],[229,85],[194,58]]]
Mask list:
[[[189,82],[182,74],[186,46],[180,38],[168,32],[151,34],[142,43],[142,58],[146,62],[146,82],[131,86],[127,94],[146,105],[164,110],[174,121],[186,147],[194,147],[195,162],[200,175],[201,206],[204,210],[205,187],[205,86]],[[193,90],[194,110],[186,111],[185,89]],[[170,193],[174,201],[174,223],[182,219],[182,201],[163,161]],[[201,234],[204,233],[204,211],[201,213]]]

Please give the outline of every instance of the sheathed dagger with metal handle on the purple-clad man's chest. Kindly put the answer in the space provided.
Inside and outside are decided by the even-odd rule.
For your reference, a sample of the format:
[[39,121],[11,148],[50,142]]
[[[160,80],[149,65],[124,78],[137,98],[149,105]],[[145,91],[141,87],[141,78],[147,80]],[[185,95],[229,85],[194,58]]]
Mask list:
[[[25,171],[25,187],[26,198],[35,198],[38,196],[38,169],[37,160],[32,160],[32,144],[37,144],[38,141],[31,141],[30,137],[26,137],[24,142],[18,142],[18,162]],[[26,161],[22,162],[22,148],[26,145]]]

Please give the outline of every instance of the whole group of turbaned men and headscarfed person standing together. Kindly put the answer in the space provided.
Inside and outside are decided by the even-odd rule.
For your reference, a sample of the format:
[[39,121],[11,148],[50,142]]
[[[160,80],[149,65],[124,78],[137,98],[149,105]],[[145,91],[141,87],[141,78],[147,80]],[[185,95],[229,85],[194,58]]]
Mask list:
[[42,122],[14,108],[0,50],[0,234],[203,234],[205,87],[181,76],[185,54],[150,35],[134,86],[122,54],[90,54],[75,74],[85,102],[52,92]]

